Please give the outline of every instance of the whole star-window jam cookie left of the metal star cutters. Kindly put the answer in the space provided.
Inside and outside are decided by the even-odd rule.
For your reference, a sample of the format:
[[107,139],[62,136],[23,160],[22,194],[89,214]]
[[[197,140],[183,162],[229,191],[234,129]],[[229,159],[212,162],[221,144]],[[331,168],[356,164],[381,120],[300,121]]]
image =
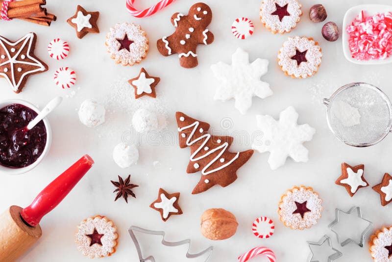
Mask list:
[[312,187],[294,186],[282,196],[278,206],[279,219],[286,227],[311,228],[321,217],[322,200]]

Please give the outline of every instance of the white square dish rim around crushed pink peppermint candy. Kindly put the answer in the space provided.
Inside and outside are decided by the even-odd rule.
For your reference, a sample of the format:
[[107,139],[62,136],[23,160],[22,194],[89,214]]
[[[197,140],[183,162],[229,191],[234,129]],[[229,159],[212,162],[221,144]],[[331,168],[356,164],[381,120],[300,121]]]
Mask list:
[[346,27],[351,25],[352,21],[354,21],[355,17],[364,10],[366,16],[372,16],[377,13],[385,13],[385,12],[392,12],[391,5],[384,5],[384,4],[362,4],[351,7],[347,10],[343,18],[343,30],[342,30],[342,41],[343,41],[343,52],[344,56],[347,58],[348,61],[359,64],[359,65],[382,65],[388,64],[392,62],[392,57],[388,57],[384,60],[357,60],[352,58],[350,49],[348,47],[348,33],[346,32]]

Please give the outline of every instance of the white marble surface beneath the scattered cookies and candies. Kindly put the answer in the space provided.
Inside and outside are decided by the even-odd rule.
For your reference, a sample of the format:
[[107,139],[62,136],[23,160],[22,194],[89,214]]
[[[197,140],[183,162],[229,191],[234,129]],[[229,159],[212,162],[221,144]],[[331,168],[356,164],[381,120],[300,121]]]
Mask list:
[[[131,225],[165,230],[169,240],[190,237],[193,240],[193,252],[214,245],[211,262],[235,262],[237,256],[258,245],[273,249],[279,262],[302,262],[309,254],[306,240],[316,241],[324,234],[331,236],[334,246],[344,253],[338,262],[371,261],[368,244],[364,248],[351,244],[344,248],[338,247],[335,236],[327,225],[334,219],[335,208],[349,209],[353,205],[359,205],[365,217],[374,222],[373,230],[389,226],[392,223],[391,206],[381,207],[380,197],[371,187],[359,190],[350,198],[345,189],[334,182],[340,174],[341,162],[346,161],[353,165],[364,163],[365,176],[370,185],[379,183],[385,172],[392,172],[392,137],[387,137],[370,148],[344,145],[328,130],[321,100],[329,97],[338,87],[352,81],[372,83],[392,97],[391,65],[360,66],[346,61],[341,41],[325,41],[320,32],[322,24],[313,24],[308,18],[309,8],[318,3],[316,0],[301,1],[304,12],[301,22],[291,33],[285,35],[273,35],[261,25],[258,16],[260,0],[205,0],[214,12],[209,29],[214,33],[215,41],[208,47],[199,46],[197,68],[184,69],[179,66],[175,55],[161,56],[155,42],[173,31],[170,23],[173,13],[187,13],[188,8],[196,1],[177,0],[162,12],[145,19],[130,16],[125,9],[124,0],[110,1],[110,6],[108,2],[48,0],[49,11],[58,17],[57,22],[49,28],[22,21],[0,22],[0,35],[11,40],[16,40],[30,31],[36,32],[38,41],[35,53],[49,65],[48,72],[30,77],[23,93],[19,95],[11,91],[4,79],[0,79],[1,99],[20,98],[43,106],[54,96],[71,95],[71,90],[60,90],[52,81],[52,75],[58,67],[72,67],[78,78],[77,84],[72,88],[76,91],[73,98],[65,98],[63,104],[49,116],[53,129],[53,143],[49,155],[28,174],[0,176],[0,210],[5,210],[10,205],[29,205],[38,192],[83,154],[90,154],[96,161],[95,166],[69,196],[44,217],[41,221],[44,233],[42,238],[21,261],[89,261],[77,251],[73,242],[74,233],[81,220],[96,214],[112,219],[118,226],[120,235],[117,252],[101,261],[138,260],[127,233]],[[153,0],[148,0],[138,5],[147,7],[148,3],[152,2]],[[389,3],[388,0],[371,2]],[[74,29],[65,22],[74,14],[77,3],[81,3],[88,11],[100,12],[99,34],[90,33],[83,39],[78,39]],[[364,3],[369,3],[369,0],[323,1],[328,12],[327,20],[335,21],[340,26],[348,8]],[[235,39],[230,30],[232,21],[240,16],[249,17],[255,24],[254,35],[245,41]],[[140,24],[150,39],[147,59],[133,67],[115,65],[104,45],[109,27],[124,21]],[[291,79],[280,71],[276,56],[289,35],[306,35],[319,41],[323,58],[319,73],[315,77]],[[47,45],[55,37],[61,37],[70,43],[71,52],[65,60],[52,60],[47,53]],[[213,101],[216,82],[209,67],[218,61],[230,63],[231,54],[237,47],[249,52],[251,60],[257,57],[270,60],[269,72],[262,79],[270,83],[274,94],[265,100],[254,98],[253,106],[246,115],[240,115],[234,108],[234,101]],[[126,86],[125,80],[135,77],[141,66],[151,75],[161,78],[157,86],[159,99],[155,101],[147,98],[135,103],[131,87],[128,89]],[[121,95],[111,95],[117,90],[114,83],[117,83],[117,87],[119,84],[123,86]],[[115,106],[117,109],[107,115],[107,122],[96,129],[83,126],[77,117],[78,106],[87,98],[96,98],[113,110],[113,102],[118,103]],[[165,137],[171,135],[175,138],[174,142],[162,143],[159,138],[149,139],[148,142],[146,136],[134,135],[130,128],[132,112],[146,103],[151,106],[154,106],[152,103],[158,103],[160,107],[163,105],[166,108],[169,126]],[[180,149],[177,145],[174,119],[176,110],[209,122],[214,131],[224,131],[235,136],[235,144],[231,150],[245,150],[250,148],[249,137],[256,131],[255,115],[270,114],[277,118],[279,112],[289,105],[297,109],[300,124],[309,123],[317,130],[313,141],[305,144],[310,151],[308,163],[288,160],[283,167],[271,171],[267,164],[269,154],[255,153],[239,170],[239,178],[235,183],[224,189],[216,186],[205,193],[191,195],[200,174],[188,175],[185,172],[189,149]],[[226,129],[221,126],[221,120],[229,121],[228,129],[227,126]],[[127,130],[129,131],[126,132]],[[124,170],[119,168],[111,157],[114,146],[122,137],[132,141],[139,140],[140,143],[138,164]],[[159,164],[154,166],[153,161],[159,161]],[[140,185],[134,190],[137,199],[129,199],[128,204],[122,199],[114,202],[114,187],[110,180],[115,180],[117,175],[125,177],[128,174],[132,174],[133,183]],[[276,210],[285,190],[300,184],[313,186],[319,192],[324,211],[319,223],[312,229],[294,231],[284,227]],[[169,192],[181,193],[180,205],[184,214],[172,216],[166,223],[161,221],[159,213],[149,208],[149,204],[157,197],[159,187]],[[209,208],[224,208],[233,212],[240,224],[237,234],[217,242],[201,236],[199,217]],[[267,240],[254,237],[251,232],[253,219],[261,215],[269,216],[275,221],[275,235]],[[157,261],[160,262],[188,261],[184,259],[185,247],[161,248],[158,237],[143,239],[142,246],[146,249],[146,256],[152,253],[160,254],[157,255]],[[254,261],[266,260],[259,258]]]

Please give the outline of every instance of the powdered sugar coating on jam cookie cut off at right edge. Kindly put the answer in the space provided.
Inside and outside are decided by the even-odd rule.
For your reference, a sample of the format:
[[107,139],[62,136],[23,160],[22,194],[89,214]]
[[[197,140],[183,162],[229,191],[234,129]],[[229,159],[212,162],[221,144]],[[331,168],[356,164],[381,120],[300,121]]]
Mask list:
[[370,246],[370,253],[375,262],[391,262],[388,249],[386,246],[392,244],[392,228],[383,228],[373,239],[373,245]]

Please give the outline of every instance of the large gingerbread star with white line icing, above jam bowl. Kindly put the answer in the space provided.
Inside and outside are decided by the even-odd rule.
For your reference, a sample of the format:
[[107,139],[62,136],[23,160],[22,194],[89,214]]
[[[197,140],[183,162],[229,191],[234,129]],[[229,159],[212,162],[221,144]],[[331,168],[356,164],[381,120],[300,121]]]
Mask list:
[[16,42],[0,36],[0,77],[15,93],[22,92],[30,75],[48,71],[48,66],[34,55],[37,35],[28,33]]

